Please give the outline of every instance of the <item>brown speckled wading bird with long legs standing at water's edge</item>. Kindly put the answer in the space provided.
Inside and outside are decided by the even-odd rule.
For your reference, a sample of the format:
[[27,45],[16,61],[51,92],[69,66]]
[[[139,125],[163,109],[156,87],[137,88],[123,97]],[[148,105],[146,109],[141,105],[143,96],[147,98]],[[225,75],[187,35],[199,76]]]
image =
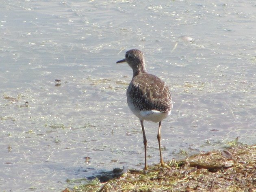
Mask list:
[[161,124],[163,119],[170,115],[173,101],[169,87],[161,78],[147,73],[145,68],[145,56],[141,50],[131,49],[125,54],[125,58],[116,63],[128,63],[132,68],[132,80],[127,88],[126,97],[130,110],[137,116],[141,123],[144,144],[144,170],[147,165],[147,138],[145,135],[144,121],[159,123],[157,140],[160,152],[160,164],[165,166],[161,152]]

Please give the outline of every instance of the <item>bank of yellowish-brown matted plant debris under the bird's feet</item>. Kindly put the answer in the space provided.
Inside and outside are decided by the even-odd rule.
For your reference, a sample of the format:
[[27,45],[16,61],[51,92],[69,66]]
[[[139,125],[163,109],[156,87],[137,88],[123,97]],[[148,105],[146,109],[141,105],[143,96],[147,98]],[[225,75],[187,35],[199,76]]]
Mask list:
[[256,192],[256,145],[233,146],[150,166],[128,170],[105,183],[90,183],[63,192]]

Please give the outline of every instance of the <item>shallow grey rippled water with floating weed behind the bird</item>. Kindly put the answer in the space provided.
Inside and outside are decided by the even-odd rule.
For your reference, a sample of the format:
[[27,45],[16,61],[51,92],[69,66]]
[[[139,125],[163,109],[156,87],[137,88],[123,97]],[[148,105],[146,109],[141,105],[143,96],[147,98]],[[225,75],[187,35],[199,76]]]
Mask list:
[[[126,104],[130,48],[169,85],[164,160],[255,144],[253,1],[14,1],[0,5],[0,191],[60,191],[128,165],[143,168],[139,120]],[[57,85],[55,79],[61,80]],[[28,101],[28,107],[25,102]],[[146,122],[148,163],[159,162]],[[89,161],[85,157],[89,157]]]

